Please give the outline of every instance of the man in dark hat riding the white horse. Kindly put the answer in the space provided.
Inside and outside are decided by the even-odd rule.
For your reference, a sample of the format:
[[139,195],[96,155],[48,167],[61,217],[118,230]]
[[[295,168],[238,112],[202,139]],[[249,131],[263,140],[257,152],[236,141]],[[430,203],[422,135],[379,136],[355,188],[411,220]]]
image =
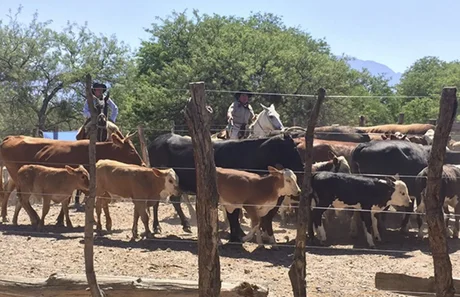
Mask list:
[[240,90],[235,94],[235,101],[228,107],[227,121],[230,139],[238,139],[238,132],[244,125],[246,128],[255,119],[254,110],[249,104],[252,94],[248,90]]

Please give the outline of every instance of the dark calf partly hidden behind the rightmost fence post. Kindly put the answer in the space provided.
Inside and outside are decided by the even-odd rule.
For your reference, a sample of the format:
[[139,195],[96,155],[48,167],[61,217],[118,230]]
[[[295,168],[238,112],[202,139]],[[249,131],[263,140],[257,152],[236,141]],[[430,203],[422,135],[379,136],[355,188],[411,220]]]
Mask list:
[[[426,195],[426,183],[428,176],[428,167],[424,168],[417,175],[415,179],[415,199],[417,201],[416,212],[425,212],[424,198]],[[459,221],[460,221],[460,166],[458,165],[444,165],[442,168],[442,181],[441,181],[441,192],[439,195],[440,202],[443,206],[444,212],[449,214],[449,205],[454,208],[455,214],[455,225],[453,231],[453,237],[458,238],[459,232]],[[418,223],[418,237],[423,238],[422,229],[422,216],[417,215]],[[446,218],[446,228],[449,228],[449,217]]]

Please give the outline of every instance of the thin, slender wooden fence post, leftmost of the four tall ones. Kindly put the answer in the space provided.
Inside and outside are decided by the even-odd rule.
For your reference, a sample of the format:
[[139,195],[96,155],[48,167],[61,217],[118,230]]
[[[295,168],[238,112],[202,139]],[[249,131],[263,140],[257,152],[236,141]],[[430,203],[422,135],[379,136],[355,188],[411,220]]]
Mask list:
[[[86,100],[88,106],[93,107],[93,94],[91,92],[91,75],[86,75]],[[94,272],[94,200],[96,197],[96,122],[97,114],[94,108],[91,112],[91,125],[89,129],[89,196],[85,203],[85,271],[91,296],[102,297],[104,292],[99,288]]]

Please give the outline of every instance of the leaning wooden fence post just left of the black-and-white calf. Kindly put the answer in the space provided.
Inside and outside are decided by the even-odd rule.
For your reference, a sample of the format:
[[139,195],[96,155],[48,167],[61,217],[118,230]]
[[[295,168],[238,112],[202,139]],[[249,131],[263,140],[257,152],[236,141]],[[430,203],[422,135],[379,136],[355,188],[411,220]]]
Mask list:
[[294,252],[294,261],[289,268],[289,279],[291,280],[294,297],[307,296],[307,263],[305,259],[305,245],[307,240],[307,220],[308,234],[310,238],[314,237],[313,226],[311,221],[311,166],[313,164],[313,132],[315,130],[318,114],[326,96],[326,90],[318,90],[318,99],[313,107],[310,119],[307,123],[307,132],[305,133],[305,171],[302,183],[302,194],[300,195],[299,213],[297,219],[297,236],[296,247]]

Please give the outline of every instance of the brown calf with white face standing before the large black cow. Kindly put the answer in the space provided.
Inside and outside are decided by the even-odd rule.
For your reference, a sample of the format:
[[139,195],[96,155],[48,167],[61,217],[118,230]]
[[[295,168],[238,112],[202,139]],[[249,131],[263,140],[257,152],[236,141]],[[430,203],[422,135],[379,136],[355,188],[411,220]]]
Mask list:
[[[220,203],[229,213],[244,207],[251,218],[252,229],[243,241],[251,240],[255,234],[257,243],[262,244],[261,218],[276,207],[280,196],[300,194],[297,176],[290,169],[268,166],[266,176],[222,167],[216,167],[216,171]],[[270,237],[270,243],[276,243],[274,236]]]

